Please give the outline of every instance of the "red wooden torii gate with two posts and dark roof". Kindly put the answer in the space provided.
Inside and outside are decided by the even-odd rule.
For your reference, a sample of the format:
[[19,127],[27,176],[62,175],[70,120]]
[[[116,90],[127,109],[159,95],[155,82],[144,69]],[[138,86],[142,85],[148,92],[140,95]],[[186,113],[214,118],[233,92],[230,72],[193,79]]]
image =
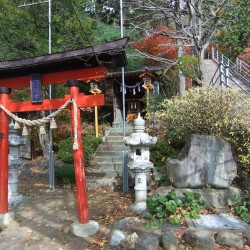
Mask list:
[[[127,44],[127,38],[120,39],[115,42],[110,42],[103,47],[100,46],[92,47],[91,52],[84,54],[85,58],[91,58],[95,55],[98,50],[99,58],[95,58],[96,61],[92,60],[91,65],[100,64],[100,58],[102,56],[103,62],[106,59],[109,62],[112,62],[114,67],[121,67],[126,65],[126,57],[123,51],[124,46]],[[108,46],[107,46],[108,45]],[[112,45],[110,47],[110,45]],[[107,52],[107,47],[108,51]],[[118,50],[119,48],[119,50]],[[88,49],[88,48],[87,48]],[[114,52],[113,52],[114,51]],[[72,52],[73,55],[76,54],[76,51]],[[84,50],[82,51],[82,54]],[[52,54],[53,56],[53,54]],[[81,55],[83,59],[83,55]],[[61,59],[61,57],[60,57]],[[122,60],[121,60],[122,59]],[[70,56],[72,62],[72,56]],[[34,60],[33,60],[34,61]],[[107,62],[106,62],[107,63]],[[20,64],[20,62],[19,62]],[[66,68],[68,67],[67,63]],[[81,121],[80,121],[80,112],[79,109],[87,106],[100,106],[104,105],[104,95],[84,95],[79,93],[79,80],[90,80],[90,79],[101,79],[106,76],[107,68],[104,64],[103,67],[91,67],[88,62],[88,67],[84,69],[74,69],[74,70],[64,70],[53,72],[53,68],[49,68],[50,72],[46,72],[44,65],[36,67],[35,69],[30,66],[31,73],[37,72],[40,70],[42,72],[41,81],[42,84],[58,84],[67,82],[68,87],[70,88],[70,94],[66,95],[64,98],[45,99],[42,103],[33,104],[30,101],[23,102],[14,102],[9,99],[9,94],[11,88],[20,88],[30,86],[30,76],[27,75],[27,69],[19,67],[18,72],[13,73],[14,77],[8,77],[10,74],[9,71],[3,73],[3,78],[0,79],[0,104],[3,105],[10,112],[29,112],[29,111],[39,111],[39,110],[55,110],[60,108],[66,101],[69,99],[74,99],[77,106],[77,133],[78,133],[78,149],[74,150],[74,167],[75,167],[75,177],[76,177],[76,195],[77,195],[77,209],[78,209],[78,222],[79,223],[88,223],[89,222],[89,213],[88,213],[88,204],[87,204],[87,189],[86,189],[86,178],[84,172],[84,152],[82,148],[82,135],[81,135]],[[81,65],[82,66],[82,65]],[[109,65],[108,65],[109,66]],[[39,68],[40,67],[40,68]],[[78,65],[79,67],[79,65]],[[58,67],[55,67],[58,69]],[[29,67],[28,67],[29,69]],[[18,70],[17,70],[18,71]],[[52,72],[51,72],[52,71]],[[7,76],[4,78],[4,76]],[[1,64],[0,64],[0,78],[1,78]],[[71,109],[72,117],[72,132],[74,134],[75,120],[74,120],[74,110],[72,105],[69,106]],[[8,214],[8,134],[9,134],[9,117],[8,115],[0,109],[0,215]]]

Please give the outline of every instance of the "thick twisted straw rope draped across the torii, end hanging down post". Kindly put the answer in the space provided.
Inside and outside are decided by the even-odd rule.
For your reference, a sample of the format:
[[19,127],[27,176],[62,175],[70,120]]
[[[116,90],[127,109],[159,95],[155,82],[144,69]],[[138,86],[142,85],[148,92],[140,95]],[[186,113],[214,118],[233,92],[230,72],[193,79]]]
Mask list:
[[11,113],[7,108],[5,108],[2,104],[0,104],[0,108],[12,119],[14,119],[16,122],[19,124],[23,124],[25,126],[36,126],[36,125],[44,125],[45,123],[49,123],[52,118],[57,116],[59,113],[61,113],[66,107],[72,103],[73,104],[73,109],[74,109],[74,141],[73,141],[73,150],[78,149],[78,133],[77,133],[77,105],[76,101],[74,99],[69,99],[66,101],[58,110],[55,112],[51,113],[47,117],[43,117],[42,119],[37,119],[37,120],[27,120],[23,118],[19,118],[15,114]]

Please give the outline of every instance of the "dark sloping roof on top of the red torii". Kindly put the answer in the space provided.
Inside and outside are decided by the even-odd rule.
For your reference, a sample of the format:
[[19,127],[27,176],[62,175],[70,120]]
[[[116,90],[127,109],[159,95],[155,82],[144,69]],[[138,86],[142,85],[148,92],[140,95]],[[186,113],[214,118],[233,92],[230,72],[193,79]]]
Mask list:
[[128,38],[100,45],[19,60],[0,62],[0,79],[105,66],[108,69],[127,65],[125,46]]

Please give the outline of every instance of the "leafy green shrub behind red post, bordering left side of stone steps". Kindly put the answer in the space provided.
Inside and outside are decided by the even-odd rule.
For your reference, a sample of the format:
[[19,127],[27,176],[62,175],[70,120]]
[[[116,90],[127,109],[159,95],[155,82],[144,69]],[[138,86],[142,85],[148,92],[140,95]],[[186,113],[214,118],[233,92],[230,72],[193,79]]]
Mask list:
[[[96,138],[95,132],[91,130],[88,133],[83,134],[82,142],[84,149],[84,165],[87,167],[89,165],[91,156],[95,153],[98,145],[101,143],[101,138]],[[59,143],[57,157],[63,162],[71,164],[74,163],[73,144],[71,137]]]

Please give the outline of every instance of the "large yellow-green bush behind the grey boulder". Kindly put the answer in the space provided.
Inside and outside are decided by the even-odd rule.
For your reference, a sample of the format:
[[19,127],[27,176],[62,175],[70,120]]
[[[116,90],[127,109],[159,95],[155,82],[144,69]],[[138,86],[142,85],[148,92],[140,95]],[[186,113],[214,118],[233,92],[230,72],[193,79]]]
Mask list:
[[183,146],[191,134],[216,135],[227,140],[238,165],[250,166],[250,98],[222,88],[192,88],[166,99],[157,116],[171,145]]

